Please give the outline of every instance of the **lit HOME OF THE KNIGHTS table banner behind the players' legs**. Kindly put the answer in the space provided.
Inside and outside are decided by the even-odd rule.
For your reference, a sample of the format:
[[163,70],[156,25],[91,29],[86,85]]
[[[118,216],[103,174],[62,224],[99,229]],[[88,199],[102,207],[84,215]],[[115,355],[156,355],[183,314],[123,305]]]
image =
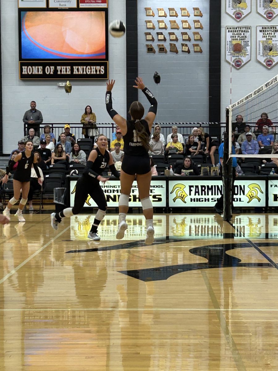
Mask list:
[[[75,200],[75,186],[77,180],[70,180],[70,207],[73,207]],[[108,207],[118,207],[120,197],[120,181],[111,180],[105,184],[100,182],[100,186],[103,189],[103,193],[106,197]],[[166,207],[166,180],[152,180],[150,182],[150,200],[152,201],[153,207]],[[142,207],[139,200],[137,182],[134,181],[132,184],[130,197],[130,207]],[[97,207],[96,203],[88,195],[84,207]]]

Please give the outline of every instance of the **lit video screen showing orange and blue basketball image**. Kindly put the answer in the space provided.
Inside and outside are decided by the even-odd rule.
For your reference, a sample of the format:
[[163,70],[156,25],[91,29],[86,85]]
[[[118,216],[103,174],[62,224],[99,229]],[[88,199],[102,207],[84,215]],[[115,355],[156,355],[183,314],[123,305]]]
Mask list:
[[105,59],[105,12],[21,12],[22,59]]

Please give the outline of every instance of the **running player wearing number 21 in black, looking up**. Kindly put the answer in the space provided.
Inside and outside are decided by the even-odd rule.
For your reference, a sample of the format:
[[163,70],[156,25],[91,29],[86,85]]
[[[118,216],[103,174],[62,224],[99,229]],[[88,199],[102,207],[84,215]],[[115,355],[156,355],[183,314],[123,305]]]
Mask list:
[[60,213],[52,213],[51,226],[56,230],[62,218],[79,214],[89,194],[97,204],[99,210],[97,210],[88,238],[98,241],[100,237],[97,236],[97,227],[105,217],[107,208],[106,198],[99,182],[105,183],[109,180],[109,178],[102,177],[100,174],[106,168],[107,164],[115,177],[119,178],[120,174],[115,168],[112,155],[106,150],[108,144],[107,137],[100,134],[97,137],[96,144],[97,148],[94,148],[89,154],[84,173],[77,180],[74,206],[67,207],[67,209],[60,211]]

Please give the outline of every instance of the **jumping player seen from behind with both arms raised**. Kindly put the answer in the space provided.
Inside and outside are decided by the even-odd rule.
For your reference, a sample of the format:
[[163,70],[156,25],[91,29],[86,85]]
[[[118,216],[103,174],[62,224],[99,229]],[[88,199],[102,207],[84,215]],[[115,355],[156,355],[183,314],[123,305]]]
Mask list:
[[139,197],[142,204],[143,214],[146,218],[146,245],[153,243],[153,207],[150,201],[150,181],[152,171],[150,169],[149,138],[153,121],[157,111],[157,101],[152,93],[145,87],[143,80],[138,77],[133,88],[140,89],[147,97],[151,106],[148,114],[144,115],[144,108],[140,102],[133,102],[129,108],[131,121],[120,116],[112,107],[112,89],[115,80],[109,80],[106,91],[106,109],[112,120],[120,127],[123,134],[124,147],[122,168],[120,172],[121,194],[119,197],[119,224],[116,239],[120,240],[125,236],[126,213],[128,212],[129,195],[132,183],[137,180]]

